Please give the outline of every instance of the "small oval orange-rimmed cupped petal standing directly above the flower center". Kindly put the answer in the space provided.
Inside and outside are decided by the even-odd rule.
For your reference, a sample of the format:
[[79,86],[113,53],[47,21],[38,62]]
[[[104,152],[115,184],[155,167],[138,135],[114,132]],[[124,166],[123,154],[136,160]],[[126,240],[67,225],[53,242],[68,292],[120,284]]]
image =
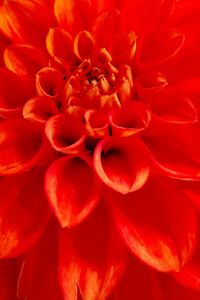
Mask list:
[[94,37],[88,31],[81,31],[74,39],[74,53],[80,60],[92,56],[94,50]]

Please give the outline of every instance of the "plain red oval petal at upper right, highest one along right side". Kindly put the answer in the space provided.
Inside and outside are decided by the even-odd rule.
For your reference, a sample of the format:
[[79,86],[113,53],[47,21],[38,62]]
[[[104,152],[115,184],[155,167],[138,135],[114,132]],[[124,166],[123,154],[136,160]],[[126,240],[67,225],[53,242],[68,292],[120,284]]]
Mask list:
[[138,63],[155,65],[166,62],[180,51],[184,41],[184,35],[171,28],[149,33],[140,41]]

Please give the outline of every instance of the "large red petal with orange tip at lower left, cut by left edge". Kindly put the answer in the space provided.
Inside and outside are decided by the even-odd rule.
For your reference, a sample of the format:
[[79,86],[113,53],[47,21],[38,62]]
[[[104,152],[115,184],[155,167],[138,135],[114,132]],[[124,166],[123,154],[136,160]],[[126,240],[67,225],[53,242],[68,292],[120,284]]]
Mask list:
[[41,236],[49,220],[40,169],[0,180],[0,256],[18,256]]

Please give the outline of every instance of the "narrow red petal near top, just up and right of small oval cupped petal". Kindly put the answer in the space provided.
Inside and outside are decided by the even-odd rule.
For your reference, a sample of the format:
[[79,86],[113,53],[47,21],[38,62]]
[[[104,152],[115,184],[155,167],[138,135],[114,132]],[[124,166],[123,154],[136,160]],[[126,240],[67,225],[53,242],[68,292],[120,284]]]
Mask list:
[[94,36],[100,47],[107,47],[119,31],[120,12],[117,9],[102,12],[93,27]]

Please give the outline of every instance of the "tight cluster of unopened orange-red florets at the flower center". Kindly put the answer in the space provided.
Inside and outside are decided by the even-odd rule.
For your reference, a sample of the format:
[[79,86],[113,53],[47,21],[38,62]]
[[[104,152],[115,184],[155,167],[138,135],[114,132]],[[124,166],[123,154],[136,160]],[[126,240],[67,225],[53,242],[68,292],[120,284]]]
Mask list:
[[121,107],[133,89],[128,65],[117,68],[110,53],[102,48],[84,59],[69,77],[63,106],[78,105],[85,109]]

